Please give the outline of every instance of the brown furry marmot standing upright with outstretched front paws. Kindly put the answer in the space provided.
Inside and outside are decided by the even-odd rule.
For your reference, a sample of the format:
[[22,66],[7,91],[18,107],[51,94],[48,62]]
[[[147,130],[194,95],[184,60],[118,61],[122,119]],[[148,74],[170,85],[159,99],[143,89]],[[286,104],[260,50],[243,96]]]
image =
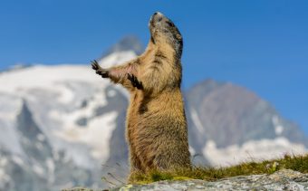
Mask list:
[[151,16],[149,31],[148,47],[136,59],[109,69],[91,62],[102,78],[130,91],[126,119],[130,173],[190,167],[187,120],[180,91],[182,36],[177,26],[160,13]]

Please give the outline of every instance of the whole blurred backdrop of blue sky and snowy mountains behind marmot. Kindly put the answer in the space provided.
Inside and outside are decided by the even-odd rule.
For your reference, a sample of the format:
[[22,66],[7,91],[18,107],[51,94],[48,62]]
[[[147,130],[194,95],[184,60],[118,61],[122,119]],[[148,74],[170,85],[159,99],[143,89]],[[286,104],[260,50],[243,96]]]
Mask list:
[[156,11],[184,38],[195,164],[306,153],[306,10],[306,1],[284,0],[1,1],[0,190],[125,181],[129,95],[90,61],[109,67],[142,53]]

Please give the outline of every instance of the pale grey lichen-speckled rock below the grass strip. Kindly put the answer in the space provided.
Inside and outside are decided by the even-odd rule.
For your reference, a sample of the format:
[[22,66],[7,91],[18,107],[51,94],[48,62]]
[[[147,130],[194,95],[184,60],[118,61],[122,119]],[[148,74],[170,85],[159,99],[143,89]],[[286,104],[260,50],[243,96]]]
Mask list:
[[125,185],[111,190],[308,190],[308,174],[283,169],[272,175],[205,180],[159,181],[148,185]]

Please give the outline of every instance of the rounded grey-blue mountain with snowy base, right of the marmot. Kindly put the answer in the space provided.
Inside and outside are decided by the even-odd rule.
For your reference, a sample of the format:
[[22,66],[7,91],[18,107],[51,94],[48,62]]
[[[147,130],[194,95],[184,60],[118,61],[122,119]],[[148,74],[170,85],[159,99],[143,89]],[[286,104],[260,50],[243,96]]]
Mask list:
[[186,92],[186,100],[190,145],[210,165],[307,151],[303,131],[245,88],[202,81]]

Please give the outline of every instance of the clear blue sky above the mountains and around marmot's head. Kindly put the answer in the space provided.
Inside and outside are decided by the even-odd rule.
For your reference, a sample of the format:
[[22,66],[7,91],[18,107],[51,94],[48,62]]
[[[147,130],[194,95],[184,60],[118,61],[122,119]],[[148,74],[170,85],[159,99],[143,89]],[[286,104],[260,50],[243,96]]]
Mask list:
[[[160,11],[184,37],[184,88],[212,78],[270,101],[308,135],[308,1],[1,0],[0,70],[88,63]],[[306,81],[306,82],[304,82]]]

